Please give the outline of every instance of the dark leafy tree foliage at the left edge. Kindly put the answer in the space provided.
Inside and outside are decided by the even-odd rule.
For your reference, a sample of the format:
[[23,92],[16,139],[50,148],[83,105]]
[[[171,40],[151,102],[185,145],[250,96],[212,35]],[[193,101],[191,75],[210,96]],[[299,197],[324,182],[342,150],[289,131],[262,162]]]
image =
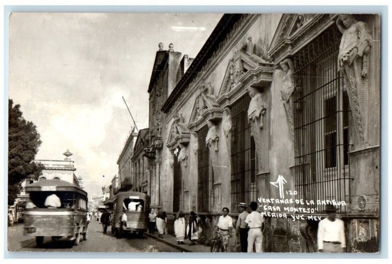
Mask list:
[[21,106],[8,99],[8,205],[14,204],[27,177],[38,179],[44,168],[32,162],[41,145],[40,134],[22,116]]

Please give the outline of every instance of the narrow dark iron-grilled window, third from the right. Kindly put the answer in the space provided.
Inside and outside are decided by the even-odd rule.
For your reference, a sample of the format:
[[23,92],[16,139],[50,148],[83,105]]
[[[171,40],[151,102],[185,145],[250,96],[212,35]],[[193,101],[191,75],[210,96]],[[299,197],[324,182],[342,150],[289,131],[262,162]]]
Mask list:
[[197,212],[212,211],[214,171],[211,166],[210,152],[205,143],[208,126],[203,126],[198,132],[197,151]]

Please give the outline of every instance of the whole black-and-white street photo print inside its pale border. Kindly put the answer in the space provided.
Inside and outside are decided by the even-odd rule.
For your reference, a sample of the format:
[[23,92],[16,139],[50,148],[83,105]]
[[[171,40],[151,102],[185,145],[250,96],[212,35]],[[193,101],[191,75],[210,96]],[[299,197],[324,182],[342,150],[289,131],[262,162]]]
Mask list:
[[8,251],[380,251],[380,14],[8,20]]

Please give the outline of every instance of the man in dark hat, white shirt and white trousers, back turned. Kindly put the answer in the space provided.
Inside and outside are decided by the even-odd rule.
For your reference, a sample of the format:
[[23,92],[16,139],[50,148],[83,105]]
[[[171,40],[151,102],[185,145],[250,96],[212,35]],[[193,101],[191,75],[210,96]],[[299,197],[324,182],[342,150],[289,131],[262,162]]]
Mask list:
[[245,222],[249,226],[248,232],[248,253],[253,252],[253,245],[256,253],[263,252],[263,232],[261,230],[264,218],[262,214],[257,212],[257,203],[251,202],[249,205],[252,212],[246,216]]

